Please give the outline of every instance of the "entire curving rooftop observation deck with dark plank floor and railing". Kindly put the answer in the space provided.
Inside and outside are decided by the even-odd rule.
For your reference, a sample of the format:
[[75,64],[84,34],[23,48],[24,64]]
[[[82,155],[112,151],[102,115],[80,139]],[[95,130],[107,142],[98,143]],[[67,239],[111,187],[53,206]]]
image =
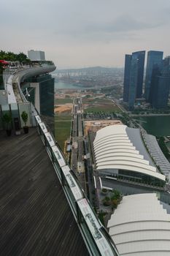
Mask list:
[[28,127],[37,130],[8,139],[0,134],[1,254],[117,256],[58,143],[20,89],[26,78],[54,69],[45,63],[4,78],[8,105],[1,105],[2,113],[17,110],[12,114],[19,113],[23,127],[20,116],[26,110]]

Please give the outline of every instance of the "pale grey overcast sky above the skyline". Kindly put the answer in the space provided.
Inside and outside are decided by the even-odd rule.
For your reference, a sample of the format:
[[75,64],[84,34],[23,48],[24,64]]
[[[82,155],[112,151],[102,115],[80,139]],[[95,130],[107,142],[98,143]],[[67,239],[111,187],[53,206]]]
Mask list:
[[170,0],[1,0],[0,49],[44,50],[59,69],[123,67],[125,53],[170,55]]

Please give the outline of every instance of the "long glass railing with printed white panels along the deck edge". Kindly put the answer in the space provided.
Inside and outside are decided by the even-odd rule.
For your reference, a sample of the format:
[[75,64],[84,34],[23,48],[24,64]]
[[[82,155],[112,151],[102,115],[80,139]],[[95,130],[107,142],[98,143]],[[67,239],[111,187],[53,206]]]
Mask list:
[[117,248],[105,227],[91,208],[79,181],[72,174],[61,149],[56,145],[40,116],[35,116],[36,127],[53,163],[55,173],[65,192],[74,218],[91,256],[118,256]]

